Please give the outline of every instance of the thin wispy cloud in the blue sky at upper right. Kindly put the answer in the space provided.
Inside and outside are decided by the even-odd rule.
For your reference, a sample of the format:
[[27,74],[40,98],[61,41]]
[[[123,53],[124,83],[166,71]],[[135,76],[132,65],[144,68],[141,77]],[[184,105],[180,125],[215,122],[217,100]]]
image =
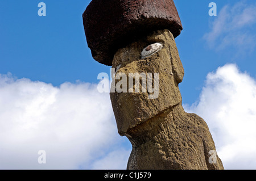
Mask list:
[[240,52],[252,51],[256,45],[256,4],[241,1],[233,6],[222,7],[211,23],[210,32],[204,39],[210,48],[224,50],[236,48]]

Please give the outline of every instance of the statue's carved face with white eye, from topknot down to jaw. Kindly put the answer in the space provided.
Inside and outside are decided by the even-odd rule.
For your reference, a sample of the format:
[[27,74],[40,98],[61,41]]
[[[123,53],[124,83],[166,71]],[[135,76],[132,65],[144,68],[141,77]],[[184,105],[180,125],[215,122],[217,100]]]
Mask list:
[[[117,71],[112,86],[117,91],[110,92],[110,98],[118,132],[122,136],[167,108],[181,104],[178,85],[183,79],[184,69],[170,31],[154,32],[119,49],[113,59],[113,68]],[[131,73],[141,75],[137,92],[135,78],[131,77],[135,74]]]

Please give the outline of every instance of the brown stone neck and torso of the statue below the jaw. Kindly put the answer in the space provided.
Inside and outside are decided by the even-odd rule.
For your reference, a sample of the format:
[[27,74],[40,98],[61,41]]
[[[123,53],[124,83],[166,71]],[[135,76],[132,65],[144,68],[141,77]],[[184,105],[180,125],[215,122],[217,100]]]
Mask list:
[[181,105],[169,108],[128,133],[133,144],[127,169],[224,169],[220,158],[210,163],[216,150],[205,121],[186,113]]

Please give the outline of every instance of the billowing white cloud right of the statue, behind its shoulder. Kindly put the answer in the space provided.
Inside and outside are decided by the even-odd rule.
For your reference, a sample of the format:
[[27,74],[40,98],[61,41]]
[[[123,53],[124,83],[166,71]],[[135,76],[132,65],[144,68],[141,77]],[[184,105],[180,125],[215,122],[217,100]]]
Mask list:
[[187,112],[207,122],[225,169],[256,169],[256,82],[234,64],[209,73]]

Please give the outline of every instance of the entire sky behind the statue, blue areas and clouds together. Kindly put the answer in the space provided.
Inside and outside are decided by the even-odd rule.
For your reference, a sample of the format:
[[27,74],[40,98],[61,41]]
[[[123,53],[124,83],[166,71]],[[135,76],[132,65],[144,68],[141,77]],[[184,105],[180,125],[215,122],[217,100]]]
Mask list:
[[[46,16],[38,16],[39,2],[46,3]],[[71,156],[72,161],[66,161],[64,164],[65,168],[125,169],[124,165],[126,164],[127,156],[129,156],[131,145],[125,137],[119,137],[116,133],[117,130],[115,128],[109,96],[106,94],[98,95],[98,93],[94,92],[97,90],[95,89],[95,86],[99,82],[97,80],[97,75],[101,72],[110,73],[110,67],[101,65],[94,61],[86,44],[84,27],[82,24],[82,12],[84,12],[89,2],[90,1],[86,0],[1,0],[0,89],[2,91],[2,95],[0,95],[0,97],[2,96],[2,98],[0,98],[0,107],[2,107],[2,110],[0,110],[0,121],[2,121],[1,124],[3,125],[5,125],[8,120],[12,120],[13,123],[18,121],[18,123],[20,123],[20,127],[14,129],[14,127],[11,126],[13,124],[10,124],[10,126],[6,126],[5,130],[3,130],[4,132],[0,135],[6,137],[7,140],[12,140],[10,141],[11,143],[27,143],[28,146],[22,147],[22,149],[26,152],[26,148],[31,148],[30,151],[27,152],[32,154],[34,153],[32,150],[35,151],[37,149],[39,150],[44,148],[40,148],[40,146],[38,146],[38,148],[32,148],[30,145],[32,145],[32,143],[34,144],[34,141],[31,140],[30,136],[33,136],[38,131],[44,134],[43,128],[47,129],[48,126],[53,123],[53,125],[58,124],[59,119],[65,119],[65,117],[71,116],[72,112],[79,114],[80,109],[77,107],[81,107],[82,105],[84,106],[86,114],[77,115],[75,119],[78,121],[77,124],[82,123],[82,125],[84,125],[83,122],[80,122],[82,120],[95,120],[96,123],[104,123],[106,128],[109,128],[109,131],[113,131],[115,133],[109,133],[109,131],[106,131],[104,127],[97,128],[97,125],[92,125],[93,128],[95,127],[102,131],[100,134],[101,137],[109,138],[108,142],[106,140],[102,140],[101,137],[98,136],[98,140],[96,140],[96,142],[98,141],[97,145],[90,141],[83,142],[83,137],[89,137],[92,135],[95,137],[95,135],[93,132],[89,134],[90,130],[88,131],[88,134],[81,130],[81,132],[79,132],[81,133],[80,136],[74,137],[75,140],[80,140],[74,146],[78,146],[78,148],[80,148],[80,144],[85,145],[85,148],[81,148],[81,150],[87,154],[84,155],[86,158],[79,159]],[[208,5],[210,2],[215,2],[217,4],[217,16],[208,15],[208,11],[210,9]],[[254,87],[256,79],[255,1],[179,0],[175,1],[175,5],[179,12],[181,23],[183,24],[183,31],[175,41],[185,70],[183,82],[180,84],[180,91],[183,97],[183,104],[187,107],[187,110],[200,113],[200,116],[203,116],[205,112],[208,111],[203,109],[203,103],[207,104],[208,107],[229,106],[229,101],[238,100],[238,97],[243,96],[242,93],[237,93],[240,92],[238,89],[240,89],[240,85],[242,85],[242,87],[248,87],[244,92],[250,90],[250,93],[248,94],[251,94],[251,99],[250,96],[248,96],[249,98],[243,99],[247,100],[247,102],[243,102],[243,106],[245,106],[245,104],[249,105],[247,110],[254,111],[254,102],[251,102],[251,100],[254,100],[256,95]],[[230,80],[228,79],[229,74],[225,73],[234,74],[234,77],[237,75],[237,80],[241,79],[241,81],[236,82]],[[230,95],[227,94],[224,99],[218,99],[224,95],[224,90],[231,89],[228,86],[230,81],[232,85],[234,85],[232,88],[234,90],[234,94],[231,95],[230,93]],[[218,87],[218,83],[222,85],[221,89],[218,89],[220,88]],[[43,93],[40,94],[40,91],[42,92],[42,90]],[[212,94],[208,94],[209,92]],[[230,90],[230,92],[232,92],[232,90]],[[203,99],[204,97],[212,97],[213,95],[216,98],[216,102],[213,102],[212,100],[207,102],[209,99]],[[9,99],[5,100],[5,98]],[[77,100],[77,102],[75,102],[75,100]],[[85,102],[78,104],[79,100],[85,100],[86,104]],[[98,102],[96,102],[96,100],[98,100]],[[222,100],[229,101],[223,102]],[[25,104],[24,102],[26,101],[27,103]],[[38,104],[35,105],[35,102]],[[104,106],[101,105],[101,102]],[[220,104],[220,102],[223,104]],[[231,102],[233,103],[233,101]],[[105,106],[105,104],[108,106]],[[17,105],[28,107],[23,110],[22,106],[19,107]],[[63,105],[67,105],[67,107],[63,107]],[[68,105],[71,109],[69,109],[70,107]],[[240,102],[238,102],[237,105],[240,107]],[[9,107],[9,110],[6,110],[6,107]],[[96,114],[104,112],[107,116],[90,116],[89,113],[93,112],[93,109],[90,110],[88,107],[98,109],[99,112],[96,111]],[[55,112],[52,112],[53,108],[56,108]],[[68,114],[62,117],[61,110],[65,111],[65,113],[70,111],[71,115]],[[236,110],[236,108],[230,108],[230,110]],[[83,109],[81,109],[80,112],[81,111],[83,111]],[[215,111],[219,111],[217,113],[220,113],[220,110]],[[24,114],[24,112],[26,112],[26,114]],[[37,114],[33,114],[33,112],[37,112]],[[214,113],[216,112],[212,112],[212,114]],[[246,116],[248,115],[246,111],[242,113],[246,114]],[[40,122],[34,124],[35,119],[41,120],[46,114],[52,115],[51,123],[46,124]],[[13,115],[19,116],[15,117]],[[233,113],[230,112],[228,115],[233,115]],[[224,116],[225,119],[228,119],[228,115]],[[254,120],[256,112],[255,114],[253,112],[251,115],[252,117],[249,116],[247,120]],[[204,116],[207,117],[208,115]],[[203,118],[205,119],[204,116]],[[23,118],[21,119],[20,117]],[[209,116],[208,119],[210,120],[211,117],[214,116]],[[71,116],[70,119],[74,119],[74,117]],[[105,120],[102,122],[102,119]],[[220,119],[220,117],[217,117],[216,119]],[[28,123],[29,120],[31,121],[30,123]],[[212,129],[214,140],[220,139],[220,136],[223,134],[214,132],[214,130],[218,129],[214,127],[214,124],[212,124],[214,121],[209,121],[207,123],[208,125],[212,125],[212,127],[209,127]],[[236,123],[237,125],[241,124],[239,121]],[[39,125],[42,124],[43,127],[40,127]],[[49,156],[49,160],[51,160],[50,158],[56,158],[56,154],[60,151],[58,149],[52,149],[52,144],[49,144],[49,140],[52,140],[52,135],[53,137],[56,137],[56,142],[61,148],[63,148],[63,150],[69,151],[70,155],[74,154],[72,152],[73,150],[67,149],[67,145],[60,144],[65,142],[64,134],[61,134],[61,132],[57,136],[53,134],[56,130],[66,131],[67,129],[67,132],[70,134],[67,134],[66,136],[73,136],[73,132],[70,131],[72,130],[73,125],[65,124],[64,122],[61,122],[61,124],[63,124],[63,126],[56,127],[56,129],[53,129],[51,133],[38,137],[39,140],[43,140],[42,142],[44,144],[42,147],[50,150],[47,153],[51,153],[52,151],[52,155],[55,155],[55,157]],[[230,124],[232,124],[232,122],[230,122]],[[85,127],[88,127],[88,125],[85,124]],[[216,123],[216,125],[222,127],[221,123]],[[251,125],[254,126],[253,121],[248,122],[248,127]],[[9,132],[9,130],[18,129],[22,132],[21,130],[23,130],[24,127],[26,127],[25,130],[30,131],[32,129],[35,132],[31,131],[30,136],[24,136],[22,140],[18,139],[19,141],[17,141],[15,136],[10,136],[11,131]],[[68,129],[68,127],[71,127],[71,129]],[[73,129],[76,130],[75,128],[76,127]],[[226,128],[229,130],[229,127]],[[62,138],[64,140],[62,140]],[[230,140],[235,139],[232,136],[229,138]],[[256,137],[251,133],[250,138],[254,140],[253,138]],[[1,141],[3,141],[2,138],[0,138],[0,142]],[[70,141],[73,142],[72,139]],[[114,144],[113,142],[115,141],[117,143]],[[112,145],[112,147],[108,145],[102,147],[104,142],[107,142],[108,145]],[[232,168],[232,159],[225,156],[228,153],[228,149],[224,149],[226,148],[225,146],[230,144],[221,141],[219,142],[220,144],[216,143],[216,145],[220,145],[219,150],[220,152],[222,151],[221,153],[225,157],[224,160],[226,161],[226,166],[228,166],[228,168]],[[240,141],[231,145],[236,149],[236,145],[238,145],[238,143],[240,143]],[[250,148],[250,150],[254,150],[255,148]],[[13,145],[11,144],[3,146],[2,149],[6,150],[6,153],[9,151],[10,157],[11,153],[16,153]],[[76,154],[80,155],[82,154],[82,151],[81,153],[79,152]],[[93,154],[94,151],[97,151],[96,155]],[[243,150],[240,150],[240,152],[242,151]],[[236,154],[234,154],[234,157],[235,156]],[[33,165],[38,164],[31,163],[34,157],[37,158],[38,155],[35,154],[33,158],[31,158],[30,155],[26,155],[28,161],[26,164],[21,164],[18,167],[36,167],[39,169],[63,168],[61,167],[62,162],[58,162],[59,160],[52,163],[52,165],[50,163],[44,166]],[[10,162],[10,160],[6,158],[0,158],[0,160],[1,159],[2,165],[0,162],[0,169],[13,168],[17,166],[15,161]],[[23,159],[23,155],[18,154],[16,159]],[[241,160],[242,159],[243,158],[241,157]],[[110,161],[112,161],[112,163],[110,163]],[[113,161],[120,162],[113,163]],[[5,163],[7,164],[8,162],[9,165],[5,165]],[[103,163],[105,163],[105,167]],[[241,164],[241,168],[237,168],[245,168],[242,167],[243,165],[246,167],[246,163],[243,163]],[[250,168],[256,169],[256,163],[251,163]]]

